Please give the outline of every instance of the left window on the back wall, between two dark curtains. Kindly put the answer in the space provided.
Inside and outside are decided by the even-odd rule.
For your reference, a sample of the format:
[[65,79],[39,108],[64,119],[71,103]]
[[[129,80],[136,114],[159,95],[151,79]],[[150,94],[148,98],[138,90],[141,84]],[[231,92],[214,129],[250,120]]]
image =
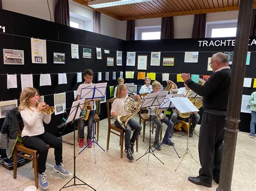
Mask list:
[[161,36],[161,26],[135,27],[135,40],[157,40]]

